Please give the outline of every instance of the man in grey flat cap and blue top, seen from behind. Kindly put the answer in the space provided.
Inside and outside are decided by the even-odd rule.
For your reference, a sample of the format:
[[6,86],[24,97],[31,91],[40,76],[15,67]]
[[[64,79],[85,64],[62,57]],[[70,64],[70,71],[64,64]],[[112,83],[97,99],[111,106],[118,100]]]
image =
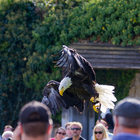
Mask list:
[[140,140],[140,100],[125,98],[119,101],[113,118],[115,126],[111,140]]

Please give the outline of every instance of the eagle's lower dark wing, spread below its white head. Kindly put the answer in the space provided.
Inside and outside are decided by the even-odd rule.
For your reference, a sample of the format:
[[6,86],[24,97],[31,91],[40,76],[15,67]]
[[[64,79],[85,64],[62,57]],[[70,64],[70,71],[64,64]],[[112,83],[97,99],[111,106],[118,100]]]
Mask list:
[[50,108],[52,114],[56,115],[56,112],[60,108],[68,109],[69,107],[75,107],[82,113],[84,110],[84,101],[73,93],[65,92],[64,96],[60,96],[58,87],[59,82],[51,80],[43,90],[44,97],[42,103]]

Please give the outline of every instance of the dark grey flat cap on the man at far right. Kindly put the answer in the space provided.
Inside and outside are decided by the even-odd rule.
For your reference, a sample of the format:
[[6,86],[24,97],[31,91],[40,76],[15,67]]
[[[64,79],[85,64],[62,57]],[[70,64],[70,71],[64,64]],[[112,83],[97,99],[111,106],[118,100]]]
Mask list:
[[136,98],[124,98],[116,104],[113,114],[126,118],[139,119],[140,100]]

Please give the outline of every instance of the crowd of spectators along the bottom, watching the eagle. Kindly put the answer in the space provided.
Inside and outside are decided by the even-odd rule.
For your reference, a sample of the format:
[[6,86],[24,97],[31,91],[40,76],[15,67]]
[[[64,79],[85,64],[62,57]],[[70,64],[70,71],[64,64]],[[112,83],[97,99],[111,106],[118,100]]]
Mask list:
[[[114,123],[111,118],[107,119],[96,121],[91,140],[140,140],[140,100],[125,98],[119,101],[113,110]],[[59,127],[54,138],[51,138],[52,126],[48,107],[32,101],[22,107],[14,132],[12,126],[5,126],[1,140],[85,140],[81,136],[83,126],[80,122],[68,122],[65,128]],[[110,132],[112,126],[113,133]]]

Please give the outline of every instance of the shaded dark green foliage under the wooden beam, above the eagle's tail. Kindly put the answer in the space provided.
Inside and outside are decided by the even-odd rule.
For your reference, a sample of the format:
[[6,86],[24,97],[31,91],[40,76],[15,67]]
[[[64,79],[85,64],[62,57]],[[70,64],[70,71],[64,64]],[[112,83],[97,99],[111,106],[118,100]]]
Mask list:
[[138,70],[96,70],[97,82],[115,86],[117,100],[128,96],[130,84]]

